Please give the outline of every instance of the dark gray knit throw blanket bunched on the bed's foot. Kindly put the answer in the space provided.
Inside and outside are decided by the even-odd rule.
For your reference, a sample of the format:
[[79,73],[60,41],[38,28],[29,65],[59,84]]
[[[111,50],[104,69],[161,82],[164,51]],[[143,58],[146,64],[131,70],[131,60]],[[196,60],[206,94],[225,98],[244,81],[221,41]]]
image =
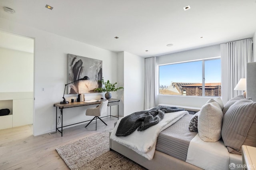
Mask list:
[[116,136],[128,136],[137,128],[138,131],[146,130],[158,124],[163,118],[164,113],[184,111],[178,107],[157,106],[147,111],[138,111],[124,117],[116,130]]

